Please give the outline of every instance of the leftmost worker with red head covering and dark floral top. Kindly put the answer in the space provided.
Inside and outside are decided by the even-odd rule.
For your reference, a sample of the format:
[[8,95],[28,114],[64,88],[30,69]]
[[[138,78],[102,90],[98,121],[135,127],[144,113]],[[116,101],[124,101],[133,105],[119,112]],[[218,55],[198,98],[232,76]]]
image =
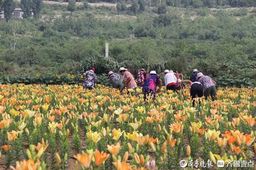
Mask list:
[[96,83],[96,74],[95,68],[91,67],[90,70],[86,71],[83,74],[83,89],[89,89],[92,90],[94,88],[94,85]]

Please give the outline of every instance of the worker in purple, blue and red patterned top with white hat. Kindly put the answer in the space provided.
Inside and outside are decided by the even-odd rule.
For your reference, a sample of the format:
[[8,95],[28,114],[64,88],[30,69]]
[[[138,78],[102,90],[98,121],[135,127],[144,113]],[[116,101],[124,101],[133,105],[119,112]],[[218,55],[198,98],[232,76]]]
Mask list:
[[147,103],[147,98],[149,95],[153,97],[153,101],[155,100],[156,95],[156,85],[159,84],[159,90],[162,88],[162,80],[159,75],[156,74],[155,71],[151,71],[149,75],[145,79],[145,83],[142,87],[143,98],[145,103]]

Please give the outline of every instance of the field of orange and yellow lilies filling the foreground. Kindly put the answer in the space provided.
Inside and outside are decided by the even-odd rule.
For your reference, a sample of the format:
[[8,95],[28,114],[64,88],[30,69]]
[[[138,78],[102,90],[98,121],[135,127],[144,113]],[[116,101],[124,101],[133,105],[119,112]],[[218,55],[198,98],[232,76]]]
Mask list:
[[0,85],[0,169],[254,169],[256,88],[195,107],[189,88],[147,104],[139,88],[95,89]]

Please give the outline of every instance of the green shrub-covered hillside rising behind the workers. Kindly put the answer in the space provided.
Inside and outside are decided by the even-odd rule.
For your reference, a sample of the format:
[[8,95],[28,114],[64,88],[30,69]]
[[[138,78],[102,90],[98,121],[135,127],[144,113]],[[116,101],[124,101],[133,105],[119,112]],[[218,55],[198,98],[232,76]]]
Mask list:
[[[124,66],[133,73],[138,68],[158,73],[172,69],[186,78],[197,68],[219,86],[256,84],[254,7],[156,5],[148,12],[139,7],[134,12],[132,2],[118,12],[118,6],[84,2],[71,13],[67,6],[44,3],[38,18],[0,20],[2,83],[8,79],[6,74],[35,77],[40,73],[46,79],[48,74],[75,74],[79,78],[91,66],[97,74]],[[135,38],[129,39],[130,34]]]

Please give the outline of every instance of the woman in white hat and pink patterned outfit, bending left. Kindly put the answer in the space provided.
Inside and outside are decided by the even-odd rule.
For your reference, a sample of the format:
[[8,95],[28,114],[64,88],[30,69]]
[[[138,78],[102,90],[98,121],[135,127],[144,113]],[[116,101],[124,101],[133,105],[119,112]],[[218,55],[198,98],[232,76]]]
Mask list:
[[121,67],[119,68],[119,72],[120,74],[123,75],[123,86],[122,89],[120,91],[122,91],[124,89],[124,87],[126,87],[126,89],[136,89],[137,84],[133,78],[133,75],[127,71],[127,68]]

